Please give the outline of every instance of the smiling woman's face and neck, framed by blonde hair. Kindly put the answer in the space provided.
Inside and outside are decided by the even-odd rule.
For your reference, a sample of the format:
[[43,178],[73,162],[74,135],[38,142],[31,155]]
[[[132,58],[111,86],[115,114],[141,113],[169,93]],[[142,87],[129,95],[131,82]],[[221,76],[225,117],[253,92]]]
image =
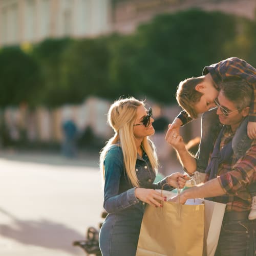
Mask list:
[[137,139],[143,139],[146,136],[153,135],[155,133],[155,129],[152,125],[154,122],[154,118],[150,118],[150,124],[145,127],[145,125],[142,124],[143,118],[147,115],[147,110],[144,108],[143,105],[138,106],[137,108],[137,115],[136,120],[134,124],[141,124],[141,125],[135,125],[134,126],[134,136]]

